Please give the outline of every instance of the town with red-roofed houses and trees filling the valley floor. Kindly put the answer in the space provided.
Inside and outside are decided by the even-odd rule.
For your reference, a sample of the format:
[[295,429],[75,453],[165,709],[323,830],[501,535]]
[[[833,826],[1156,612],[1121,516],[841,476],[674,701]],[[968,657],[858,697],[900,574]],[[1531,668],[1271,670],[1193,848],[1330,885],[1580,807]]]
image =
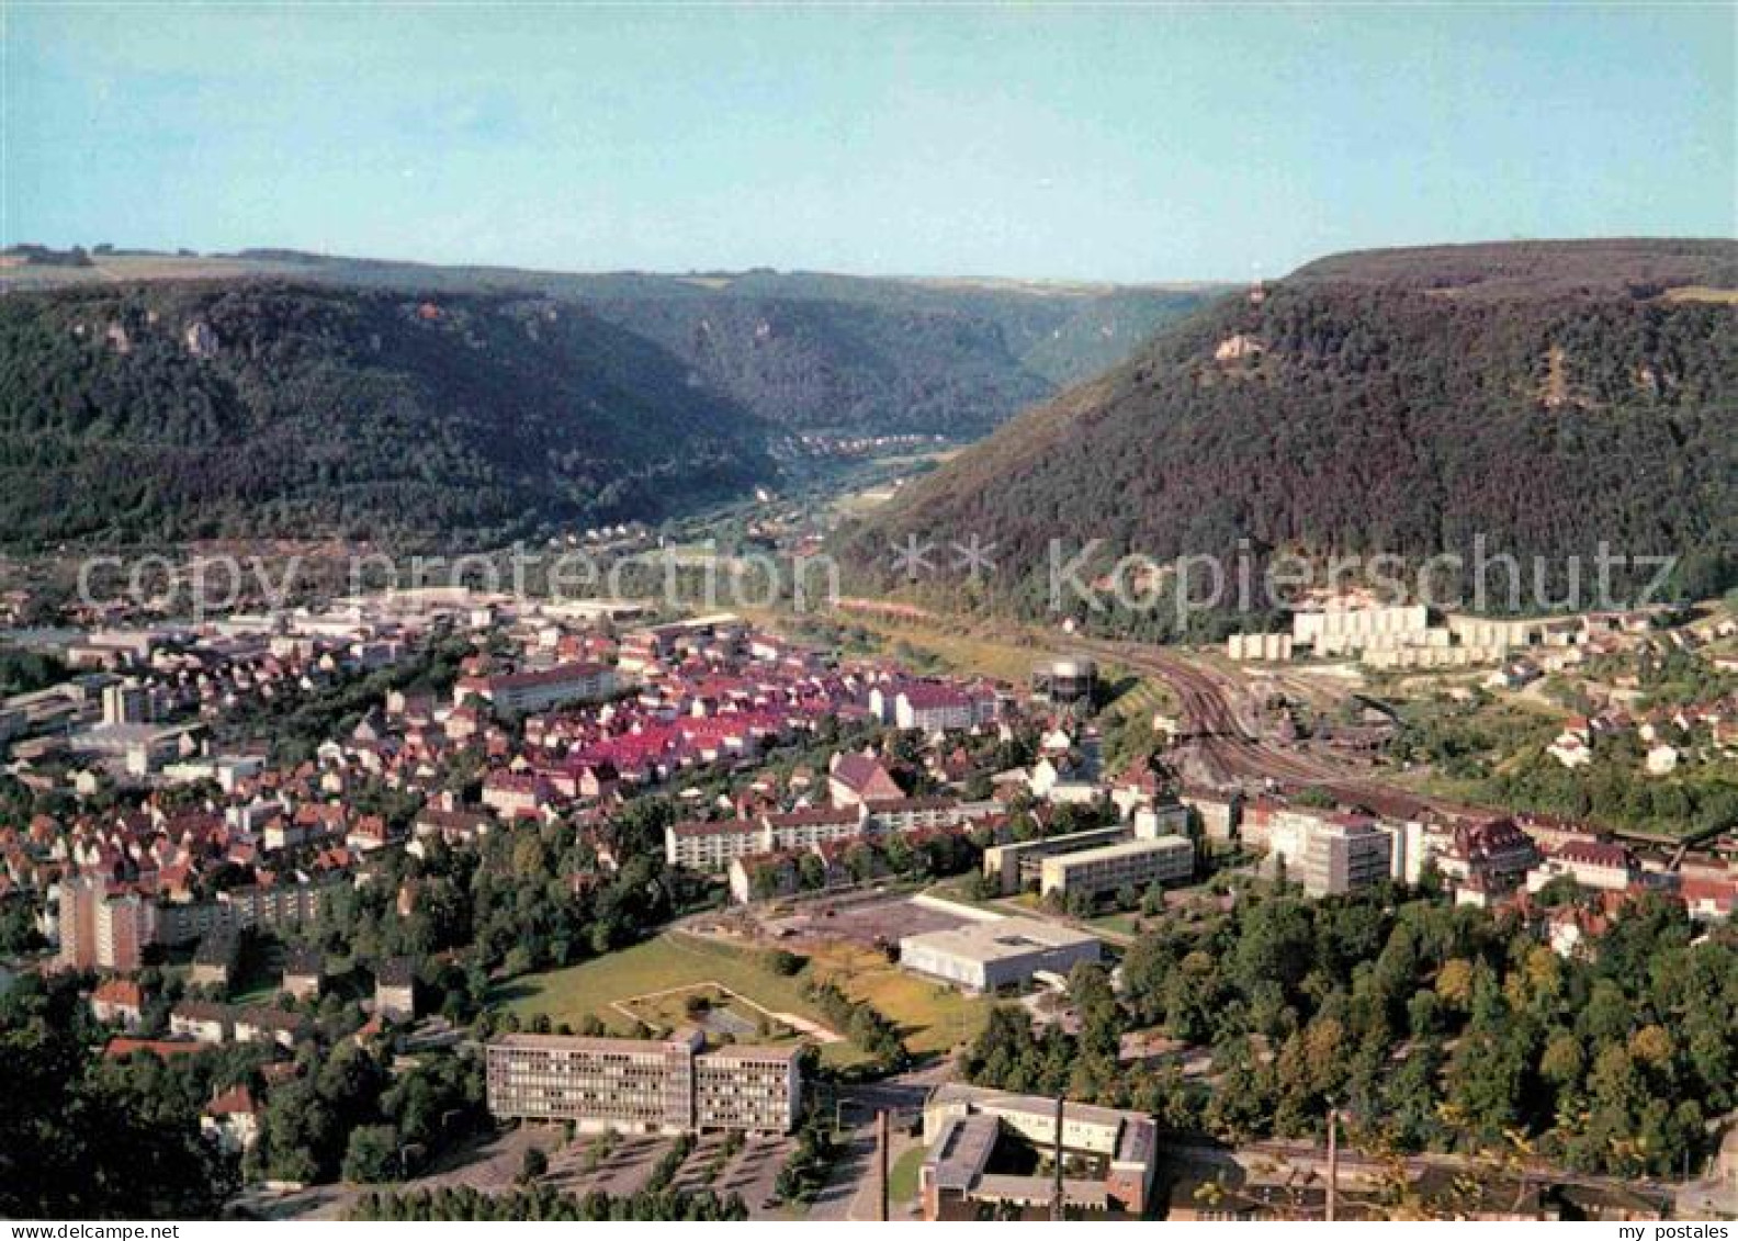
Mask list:
[[[1394,627],[1323,615],[1298,617],[1317,647]],[[1663,620],[1606,626],[1625,636],[1592,648],[1517,631],[1496,662],[1722,659],[1733,638],[1731,620]],[[247,1215],[384,1218],[490,1192],[695,1218],[1717,1203],[1738,1142],[1698,1104],[1738,1102],[1729,986],[1635,1025],[1629,1006],[1660,1001],[1597,979],[1648,935],[1729,984],[1738,834],[1410,793],[1364,740],[1321,744],[1270,709],[1272,737],[1244,735],[1215,694],[1253,676],[1237,683],[1272,697],[1246,655],[1310,666],[1239,645],[1171,683],[1138,648],[1064,638],[1013,683],[730,614],[469,589],[63,631],[33,648],[45,683],[0,709],[0,1005],[61,1013],[103,1081],[184,1109],[209,1210]],[[1693,761],[1728,761],[1731,713],[1613,706],[1566,718],[1549,753],[1580,768],[1609,749],[1595,733],[1629,727],[1663,777],[1667,730]],[[1338,935],[1401,972],[1399,1029],[1357,1015],[1363,984],[1310,973],[1352,951]],[[1251,952],[1281,956],[1237,984]],[[1300,984],[1337,998],[1291,998]],[[1571,986],[1609,989],[1627,1032],[1595,1053],[1609,1034],[1566,1029],[1538,1074],[1601,1107],[1613,1055],[1705,1083],[1660,1118],[1601,1118],[1655,1126],[1653,1149],[1549,1125],[1519,1158],[1444,1145],[1423,1119],[1378,1126],[1383,1058],[1463,1107],[1484,1071],[1465,1046],[1496,1039],[1488,992]],[[1208,1015],[1213,989],[1241,999]],[[1307,1048],[1361,1024],[1371,1079],[1284,1079],[1326,1072]],[[1232,1111],[1264,1092],[1276,1114]],[[1331,1161],[1310,1140],[1324,1123]],[[1469,1170],[1477,1201],[1456,1191]]]

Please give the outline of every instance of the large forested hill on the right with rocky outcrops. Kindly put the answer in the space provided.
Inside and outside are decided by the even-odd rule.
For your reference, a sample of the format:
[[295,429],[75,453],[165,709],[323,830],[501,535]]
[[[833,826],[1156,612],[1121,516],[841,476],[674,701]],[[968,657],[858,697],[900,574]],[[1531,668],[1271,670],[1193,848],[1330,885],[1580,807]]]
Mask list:
[[[1682,554],[1738,548],[1738,245],[1529,243],[1338,256],[1227,295],[1034,408],[848,541],[998,544],[1041,598],[1046,544],[1105,554]],[[885,570],[883,570],[885,572]],[[1589,570],[1590,572],[1590,570]]]

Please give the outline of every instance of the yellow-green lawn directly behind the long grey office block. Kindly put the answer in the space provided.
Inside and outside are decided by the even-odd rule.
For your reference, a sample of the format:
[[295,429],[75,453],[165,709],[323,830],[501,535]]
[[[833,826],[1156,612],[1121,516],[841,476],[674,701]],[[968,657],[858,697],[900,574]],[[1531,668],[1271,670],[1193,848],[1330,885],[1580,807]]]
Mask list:
[[[786,979],[766,968],[754,949],[669,932],[594,961],[514,979],[497,992],[495,1003],[521,1019],[547,1013],[553,1022],[577,1025],[589,1015],[614,1034],[631,1034],[633,1022],[615,1008],[619,1001],[713,982],[773,1013],[794,1013],[826,1025],[826,1019],[803,998],[803,984],[808,977],[831,977],[853,999],[867,1001],[899,1022],[905,1045],[919,1055],[975,1038],[987,1020],[987,1001],[900,973],[869,947],[829,942],[798,951],[810,956],[808,970]],[[634,1008],[643,1012],[643,1005]],[[653,1006],[655,1012],[664,1008],[674,1013],[680,998],[673,1005]],[[850,1065],[862,1062],[864,1055],[839,1041],[822,1046],[822,1058]]]

